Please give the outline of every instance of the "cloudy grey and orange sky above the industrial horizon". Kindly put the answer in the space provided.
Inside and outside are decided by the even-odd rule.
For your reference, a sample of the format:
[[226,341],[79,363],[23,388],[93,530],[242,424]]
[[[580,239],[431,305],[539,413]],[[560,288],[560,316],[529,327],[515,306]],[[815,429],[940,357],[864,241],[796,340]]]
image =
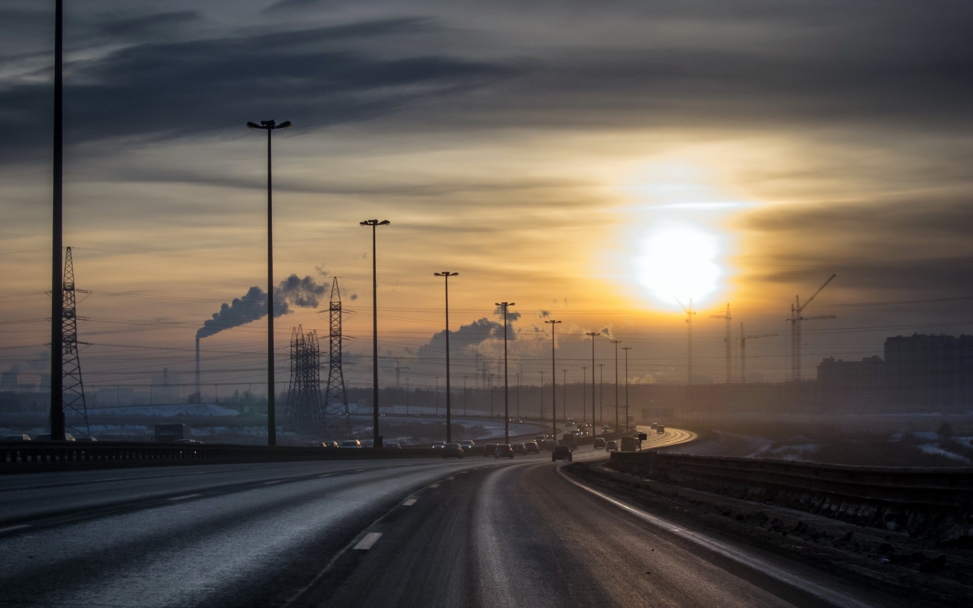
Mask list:
[[[973,323],[966,0],[65,4],[64,242],[93,292],[92,385],[190,370],[203,321],[267,288],[265,134],[244,124],[268,119],[294,124],[274,133],[276,280],[340,276],[366,353],[357,223],[390,220],[383,365],[414,385],[442,376],[444,269],[460,373],[498,352],[500,301],[523,312],[517,371],[548,369],[550,315],[569,376],[603,330],[645,381],[685,375],[676,298],[716,381],[710,314],[779,333],[748,369],[782,378],[789,304],[832,273],[806,314],[838,318],[806,324],[805,376]],[[0,369],[24,374],[49,340],[53,6],[0,7]],[[923,302],[847,305],[903,301]],[[327,327],[314,309],[276,322],[284,382],[291,328]],[[259,381],[264,328],[206,337],[204,381]]]

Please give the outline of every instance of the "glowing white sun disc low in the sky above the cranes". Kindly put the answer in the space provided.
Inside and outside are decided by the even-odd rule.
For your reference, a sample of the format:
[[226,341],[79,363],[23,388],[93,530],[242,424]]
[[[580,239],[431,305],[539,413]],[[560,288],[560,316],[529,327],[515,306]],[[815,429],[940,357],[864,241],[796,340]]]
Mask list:
[[699,304],[720,289],[720,238],[691,224],[667,222],[649,232],[635,260],[637,276],[662,304]]

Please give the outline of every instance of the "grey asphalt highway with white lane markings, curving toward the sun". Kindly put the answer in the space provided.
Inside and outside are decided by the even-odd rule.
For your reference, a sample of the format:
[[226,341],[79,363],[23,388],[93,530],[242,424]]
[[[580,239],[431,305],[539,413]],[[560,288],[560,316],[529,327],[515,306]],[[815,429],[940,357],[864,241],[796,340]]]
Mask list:
[[6,476],[0,605],[890,605],[562,466],[542,453]]

